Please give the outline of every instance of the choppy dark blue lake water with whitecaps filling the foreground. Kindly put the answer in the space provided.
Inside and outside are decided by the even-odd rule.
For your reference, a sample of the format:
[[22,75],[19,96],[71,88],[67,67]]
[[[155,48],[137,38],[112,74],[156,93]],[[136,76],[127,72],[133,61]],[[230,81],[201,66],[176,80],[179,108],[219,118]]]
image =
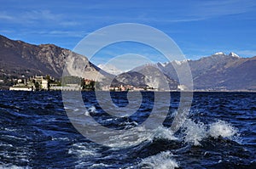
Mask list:
[[[172,133],[179,93],[172,93],[169,114],[152,130],[140,126],[154,107],[154,93],[129,118],[112,117],[97,104],[94,93],[83,93],[78,120],[92,115],[104,127],[139,131],[137,144],[108,147],[84,138],[69,121],[59,92],[0,92],[1,168],[256,168],[256,93],[194,93],[183,127]],[[112,93],[117,107],[125,93]],[[75,100],[70,100],[74,103]],[[166,106],[166,105],[163,105]],[[161,108],[160,108],[161,110]],[[154,122],[154,121],[152,121]]]

